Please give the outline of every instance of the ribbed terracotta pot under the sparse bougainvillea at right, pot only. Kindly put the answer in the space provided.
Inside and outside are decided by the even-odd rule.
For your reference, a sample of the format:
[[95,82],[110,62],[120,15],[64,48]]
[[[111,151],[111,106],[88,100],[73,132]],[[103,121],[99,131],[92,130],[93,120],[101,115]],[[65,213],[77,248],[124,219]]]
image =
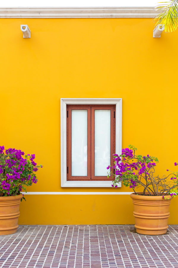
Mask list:
[[[138,195],[136,195],[138,194]],[[144,196],[142,192],[131,194],[134,204],[135,228],[137,233],[159,235],[167,232],[169,205],[172,197]]]

